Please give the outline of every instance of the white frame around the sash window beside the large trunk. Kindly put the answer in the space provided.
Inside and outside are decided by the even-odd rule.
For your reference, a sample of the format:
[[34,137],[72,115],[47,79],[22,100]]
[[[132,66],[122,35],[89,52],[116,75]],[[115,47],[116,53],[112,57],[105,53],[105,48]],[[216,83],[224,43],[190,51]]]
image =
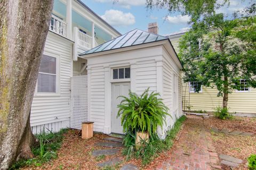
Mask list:
[[[43,55],[47,55],[49,57],[56,58],[56,91],[55,92],[38,92],[37,91],[37,81],[36,81],[36,89],[35,89],[35,96],[60,96],[60,55],[44,52]],[[38,72],[39,74],[39,72]],[[48,74],[48,73],[44,73]],[[50,74],[49,75],[53,75]]]

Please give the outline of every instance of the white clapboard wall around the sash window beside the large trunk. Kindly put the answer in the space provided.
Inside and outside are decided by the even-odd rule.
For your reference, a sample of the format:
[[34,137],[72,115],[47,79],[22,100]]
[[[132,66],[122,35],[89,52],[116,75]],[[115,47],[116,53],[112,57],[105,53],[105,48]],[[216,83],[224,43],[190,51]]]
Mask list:
[[61,128],[69,127],[70,123],[72,43],[49,32],[44,53],[59,57],[59,94],[42,96],[35,93],[30,115],[33,133],[40,133],[44,128],[46,132],[47,129],[58,132]]

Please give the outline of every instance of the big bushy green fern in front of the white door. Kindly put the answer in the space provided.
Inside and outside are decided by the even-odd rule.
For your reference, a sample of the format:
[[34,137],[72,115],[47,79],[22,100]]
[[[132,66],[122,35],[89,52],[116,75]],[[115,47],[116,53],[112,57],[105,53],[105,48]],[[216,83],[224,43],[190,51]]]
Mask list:
[[160,95],[155,92],[149,94],[149,88],[140,96],[131,91],[129,97],[119,96],[124,99],[117,106],[119,108],[117,117],[121,116],[125,134],[141,131],[151,135],[156,133],[158,126],[163,128],[169,109],[158,96]]

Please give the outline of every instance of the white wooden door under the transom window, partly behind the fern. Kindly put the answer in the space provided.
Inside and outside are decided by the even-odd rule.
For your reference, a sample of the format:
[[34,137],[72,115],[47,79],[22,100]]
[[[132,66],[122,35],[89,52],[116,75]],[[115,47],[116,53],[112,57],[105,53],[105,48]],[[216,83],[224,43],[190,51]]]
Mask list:
[[119,105],[123,100],[123,98],[118,96],[128,96],[129,90],[130,82],[112,83],[111,132],[113,133],[123,133],[123,127],[121,126],[121,117],[116,117],[118,113],[117,105]]

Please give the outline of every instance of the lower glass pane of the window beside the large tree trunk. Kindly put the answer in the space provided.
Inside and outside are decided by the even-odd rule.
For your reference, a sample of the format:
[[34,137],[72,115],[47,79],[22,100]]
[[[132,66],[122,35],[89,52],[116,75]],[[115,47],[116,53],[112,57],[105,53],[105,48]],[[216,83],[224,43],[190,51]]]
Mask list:
[[56,75],[38,74],[37,92],[56,92]]

